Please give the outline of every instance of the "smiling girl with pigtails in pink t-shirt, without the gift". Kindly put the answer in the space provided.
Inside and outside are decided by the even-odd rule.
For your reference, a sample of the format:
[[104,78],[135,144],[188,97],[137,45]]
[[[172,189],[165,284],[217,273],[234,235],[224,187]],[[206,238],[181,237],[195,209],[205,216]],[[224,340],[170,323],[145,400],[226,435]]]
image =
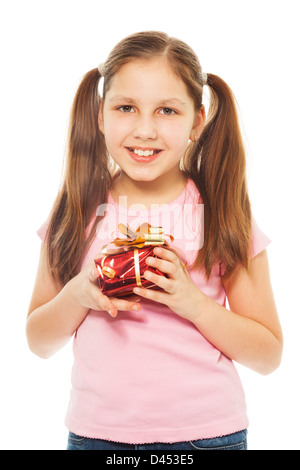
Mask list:
[[[167,275],[145,273],[159,290],[100,291],[94,259],[120,222],[174,236],[147,259]],[[282,353],[269,240],[251,215],[233,94],[189,46],[134,34],[87,73],[39,235],[27,338],[46,358],[75,333],[68,449],[246,449],[232,360],[268,374]]]

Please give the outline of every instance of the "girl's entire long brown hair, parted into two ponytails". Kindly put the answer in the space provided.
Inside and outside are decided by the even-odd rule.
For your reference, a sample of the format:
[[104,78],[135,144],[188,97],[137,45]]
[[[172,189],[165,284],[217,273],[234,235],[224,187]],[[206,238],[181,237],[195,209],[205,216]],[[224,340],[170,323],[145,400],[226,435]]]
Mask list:
[[[61,189],[54,203],[47,233],[51,272],[62,284],[75,276],[95,236],[99,217],[87,234],[87,226],[100,204],[107,201],[112,169],[105,140],[98,128],[101,99],[121,66],[134,59],[163,56],[183,80],[200,110],[203,74],[194,51],[165,33],[133,34],[115,46],[104,64],[103,96],[99,94],[98,68],[88,72],[76,93],[69,126],[68,152]],[[199,140],[191,143],[182,161],[186,176],[193,179],[204,203],[204,245],[195,266],[210,276],[222,262],[225,278],[237,265],[248,268],[251,209],[246,184],[246,158],[235,99],[228,85],[208,74],[208,119]]]

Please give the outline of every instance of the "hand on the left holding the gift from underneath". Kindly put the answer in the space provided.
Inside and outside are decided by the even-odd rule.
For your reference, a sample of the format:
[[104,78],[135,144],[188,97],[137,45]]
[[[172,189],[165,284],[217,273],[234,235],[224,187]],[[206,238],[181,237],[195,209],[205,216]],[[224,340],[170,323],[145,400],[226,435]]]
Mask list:
[[140,298],[137,296],[127,297],[126,299],[118,299],[116,297],[107,297],[102,294],[98,285],[98,270],[94,260],[95,258],[71,281],[69,281],[69,289],[75,301],[85,308],[92,310],[106,310],[109,315],[116,317],[118,310],[138,311],[141,309]]

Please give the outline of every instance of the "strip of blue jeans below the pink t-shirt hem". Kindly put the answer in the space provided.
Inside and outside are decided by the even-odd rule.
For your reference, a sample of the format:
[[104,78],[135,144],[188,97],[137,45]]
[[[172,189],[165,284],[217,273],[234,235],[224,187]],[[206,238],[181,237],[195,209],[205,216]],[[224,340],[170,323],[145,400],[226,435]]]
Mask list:
[[122,444],[119,442],[89,439],[70,432],[67,450],[247,450],[247,430],[227,436],[173,444]]

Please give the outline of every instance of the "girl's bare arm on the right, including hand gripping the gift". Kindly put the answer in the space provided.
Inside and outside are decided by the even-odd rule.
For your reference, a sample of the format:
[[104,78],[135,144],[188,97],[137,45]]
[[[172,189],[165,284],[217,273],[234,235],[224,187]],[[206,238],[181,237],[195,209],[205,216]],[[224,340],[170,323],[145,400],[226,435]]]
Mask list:
[[156,254],[161,259],[148,258],[149,264],[167,273],[169,279],[150,272],[146,277],[165,292],[136,289],[135,293],[164,303],[190,320],[229,358],[262,374],[279,366],[283,340],[266,251],[251,260],[250,276],[238,268],[224,284],[230,310],[198,289],[174,253],[160,248]]

